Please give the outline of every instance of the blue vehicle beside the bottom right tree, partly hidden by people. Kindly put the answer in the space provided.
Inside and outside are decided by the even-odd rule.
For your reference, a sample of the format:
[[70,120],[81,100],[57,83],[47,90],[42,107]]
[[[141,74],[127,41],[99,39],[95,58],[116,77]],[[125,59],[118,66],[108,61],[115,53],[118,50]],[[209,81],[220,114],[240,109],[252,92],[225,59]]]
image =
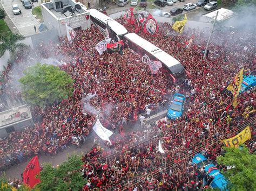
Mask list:
[[192,158],[193,164],[197,164],[198,168],[201,168],[202,166],[205,167],[205,172],[207,176],[213,176],[214,179],[212,180],[210,186],[212,188],[218,188],[220,190],[227,190],[227,181],[225,179],[225,176],[219,172],[218,168],[215,168],[215,165],[212,164],[212,162],[208,161],[207,158],[201,154],[198,153],[194,155]]

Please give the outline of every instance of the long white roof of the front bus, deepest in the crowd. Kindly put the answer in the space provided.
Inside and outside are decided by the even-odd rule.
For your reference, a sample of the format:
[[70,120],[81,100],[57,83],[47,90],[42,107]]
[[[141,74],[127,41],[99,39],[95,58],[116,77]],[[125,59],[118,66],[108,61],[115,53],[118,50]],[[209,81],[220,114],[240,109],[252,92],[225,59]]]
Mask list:
[[[157,46],[154,46],[149,41],[145,40],[142,37],[139,37],[137,34],[129,33],[129,34],[126,34],[125,37],[133,41],[143,49],[145,49],[147,52],[152,53],[154,56],[156,56],[158,60],[163,62],[167,67],[171,68],[172,66],[175,66],[175,65],[181,65],[181,63],[178,60],[174,59],[170,54],[167,54]],[[181,65],[180,67],[183,67],[183,65]]]

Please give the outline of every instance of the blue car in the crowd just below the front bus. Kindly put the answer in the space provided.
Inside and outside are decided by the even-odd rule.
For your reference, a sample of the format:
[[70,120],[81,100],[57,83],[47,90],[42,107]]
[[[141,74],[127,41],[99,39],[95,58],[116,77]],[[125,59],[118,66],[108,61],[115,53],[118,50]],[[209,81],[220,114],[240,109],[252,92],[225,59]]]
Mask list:
[[177,119],[182,115],[184,109],[186,97],[182,94],[175,93],[172,97],[172,104],[167,111],[167,117],[169,119]]

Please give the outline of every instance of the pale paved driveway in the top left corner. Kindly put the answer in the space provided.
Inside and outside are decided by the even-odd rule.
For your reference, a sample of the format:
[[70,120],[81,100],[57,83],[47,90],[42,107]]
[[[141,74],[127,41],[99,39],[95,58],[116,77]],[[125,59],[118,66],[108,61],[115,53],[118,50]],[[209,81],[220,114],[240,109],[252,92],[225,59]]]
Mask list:
[[[1,1],[1,0],[0,0]],[[19,9],[22,11],[22,15],[14,15],[12,12],[12,5],[17,4],[19,6]],[[34,6],[40,5],[40,3],[33,3]],[[32,15],[32,9],[25,9],[22,5],[21,0],[2,0],[2,6],[5,10],[5,12],[8,14],[10,19],[12,20],[12,23],[16,26],[18,31],[25,37],[31,36],[32,34],[35,34],[34,26],[37,28],[40,25],[40,23],[37,21],[35,17]]]

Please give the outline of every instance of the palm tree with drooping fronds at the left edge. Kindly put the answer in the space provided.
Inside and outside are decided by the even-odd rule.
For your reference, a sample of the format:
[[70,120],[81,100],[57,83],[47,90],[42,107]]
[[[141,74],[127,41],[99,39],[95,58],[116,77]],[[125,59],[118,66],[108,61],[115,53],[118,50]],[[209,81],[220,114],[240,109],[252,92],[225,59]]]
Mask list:
[[24,43],[21,43],[21,40],[24,40],[25,37],[22,36],[21,34],[13,34],[10,33],[10,35],[2,35],[1,36],[3,44],[2,49],[4,51],[9,51],[11,54],[11,61],[15,60],[17,57],[17,52],[24,49],[28,48],[27,45]]

